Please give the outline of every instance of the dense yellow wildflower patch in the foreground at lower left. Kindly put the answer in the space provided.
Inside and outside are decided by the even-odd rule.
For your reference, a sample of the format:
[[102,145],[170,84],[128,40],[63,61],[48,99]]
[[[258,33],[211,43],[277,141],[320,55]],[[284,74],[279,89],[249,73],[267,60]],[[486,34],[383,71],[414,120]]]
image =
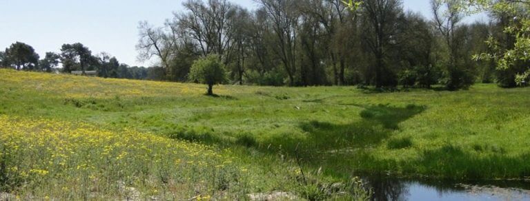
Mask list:
[[8,188],[52,198],[119,195],[119,182],[191,197],[193,185],[211,180],[215,171],[237,169],[226,167],[232,158],[207,145],[132,129],[110,131],[6,115],[0,115],[0,150],[0,163],[6,165],[0,173],[8,176],[12,185]]

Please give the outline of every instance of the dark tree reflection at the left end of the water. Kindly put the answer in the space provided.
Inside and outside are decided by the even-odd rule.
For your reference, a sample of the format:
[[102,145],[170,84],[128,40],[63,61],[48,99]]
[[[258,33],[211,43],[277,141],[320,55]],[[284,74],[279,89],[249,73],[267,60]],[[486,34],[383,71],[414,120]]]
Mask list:
[[366,188],[373,192],[371,200],[404,200],[409,194],[405,182],[391,178],[364,178]]

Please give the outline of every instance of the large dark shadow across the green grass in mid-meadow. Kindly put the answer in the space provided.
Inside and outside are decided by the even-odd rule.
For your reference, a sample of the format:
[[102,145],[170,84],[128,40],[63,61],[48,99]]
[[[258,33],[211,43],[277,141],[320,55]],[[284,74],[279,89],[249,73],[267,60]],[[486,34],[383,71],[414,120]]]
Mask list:
[[[348,124],[335,124],[312,120],[299,123],[306,137],[290,138],[276,136],[266,139],[263,144],[281,146],[287,154],[301,154],[306,159],[320,158],[323,153],[342,149],[375,147],[391,133],[399,129],[398,125],[424,111],[424,106],[408,105],[393,107],[390,105],[357,105],[364,107],[361,119]],[[344,150],[342,150],[344,151]],[[347,151],[347,150],[346,150]]]

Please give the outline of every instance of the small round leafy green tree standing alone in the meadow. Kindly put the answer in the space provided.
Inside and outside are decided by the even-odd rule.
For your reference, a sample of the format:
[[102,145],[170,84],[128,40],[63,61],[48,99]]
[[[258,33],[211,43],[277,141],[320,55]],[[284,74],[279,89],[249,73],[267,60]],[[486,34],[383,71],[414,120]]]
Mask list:
[[219,56],[210,54],[202,59],[197,59],[191,66],[189,81],[208,85],[209,96],[213,95],[213,85],[226,80],[224,65],[219,61]]

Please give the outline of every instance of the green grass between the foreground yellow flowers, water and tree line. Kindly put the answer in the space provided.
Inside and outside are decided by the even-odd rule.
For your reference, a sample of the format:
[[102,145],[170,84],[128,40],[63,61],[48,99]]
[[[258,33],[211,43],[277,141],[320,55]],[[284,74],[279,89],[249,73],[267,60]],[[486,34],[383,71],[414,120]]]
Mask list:
[[296,167],[298,159],[314,175],[310,182],[365,173],[530,176],[530,88],[375,93],[222,85],[214,87],[217,97],[204,92],[203,85],[0,70],[0,114],[128,127],[228,149],[256,167],[281,167],[282,158]]

